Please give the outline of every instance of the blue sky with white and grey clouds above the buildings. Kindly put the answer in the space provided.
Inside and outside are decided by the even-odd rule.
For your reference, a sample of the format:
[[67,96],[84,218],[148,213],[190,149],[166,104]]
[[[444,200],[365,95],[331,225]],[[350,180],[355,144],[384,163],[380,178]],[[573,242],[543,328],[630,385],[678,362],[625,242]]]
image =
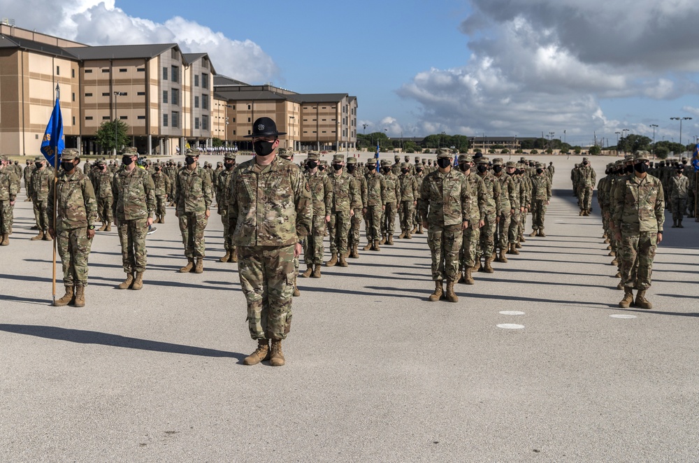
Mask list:
[[[390,136],[699,135],[696,0],[0,0],[17,26],[90,45],[180,43],[217,71],[347,92]],[[331,56],[332,59],[320,57]]]

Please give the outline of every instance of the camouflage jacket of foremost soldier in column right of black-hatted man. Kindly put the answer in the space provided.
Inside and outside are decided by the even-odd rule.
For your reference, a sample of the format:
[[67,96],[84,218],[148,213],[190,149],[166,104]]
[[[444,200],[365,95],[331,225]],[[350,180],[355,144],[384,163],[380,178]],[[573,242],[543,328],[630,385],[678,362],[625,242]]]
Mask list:
[[423,222],[438,227],[461,225],[470,220],[470,209],[468,180],[456,169],[431,172],[422,181],[418,212]]

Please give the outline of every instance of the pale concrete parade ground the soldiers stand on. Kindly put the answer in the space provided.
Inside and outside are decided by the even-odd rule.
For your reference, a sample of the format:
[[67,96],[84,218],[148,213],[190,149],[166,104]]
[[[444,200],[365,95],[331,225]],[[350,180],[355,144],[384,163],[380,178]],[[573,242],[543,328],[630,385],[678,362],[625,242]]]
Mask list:
[[[556,167],[545,238],[431,303],[426,234],[396,226],[395,245],[298,278],[278,368],[242,364],[257,343],[215,208],[203,273],[176,273],[168,208],[143,290],[115,289],[113,227],[92,244],[87,306],[59,308],[22,187],[0,248],[0,461],[699,461],[699,223],[673,229],[666,211],[654,308],[619,308],[596,198],[580,217],[571,195],[582,157],[529,157]],[[598,179],[612,159],[591,158]]]

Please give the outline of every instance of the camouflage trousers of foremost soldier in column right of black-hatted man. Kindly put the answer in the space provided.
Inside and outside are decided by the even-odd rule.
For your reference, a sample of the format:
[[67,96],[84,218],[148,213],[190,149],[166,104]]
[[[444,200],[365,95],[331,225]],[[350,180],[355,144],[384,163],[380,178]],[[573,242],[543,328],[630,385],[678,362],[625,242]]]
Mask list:
[[432,254],[432,279],[456,281],[459,279],[459,250],[463,241],[461,225],[439,227],[430,225],[427,243]]

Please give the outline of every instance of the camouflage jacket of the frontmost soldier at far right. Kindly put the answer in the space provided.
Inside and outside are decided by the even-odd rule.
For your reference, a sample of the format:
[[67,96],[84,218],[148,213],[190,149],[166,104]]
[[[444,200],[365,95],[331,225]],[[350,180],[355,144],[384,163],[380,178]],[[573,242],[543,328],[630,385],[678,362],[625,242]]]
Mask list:
[[665,222],[665,194],[663,184],[646,175],[640,179],[635,174],[624,176],[614,189],[614,226],[627,233],[663,231]]

